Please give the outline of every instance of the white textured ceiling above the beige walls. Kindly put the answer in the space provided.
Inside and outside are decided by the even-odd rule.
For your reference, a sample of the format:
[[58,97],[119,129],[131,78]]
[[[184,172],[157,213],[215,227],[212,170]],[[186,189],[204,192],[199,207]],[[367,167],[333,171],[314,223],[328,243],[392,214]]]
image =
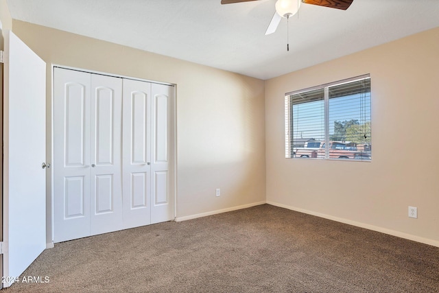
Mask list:
[[[302,4],[265,36],[276,0],[8,0],[13,19],[266,80],[439,26],[439,0]],[[438,40],[439,42],[439,40]],[[439,53],[438,53],[439,54]]]

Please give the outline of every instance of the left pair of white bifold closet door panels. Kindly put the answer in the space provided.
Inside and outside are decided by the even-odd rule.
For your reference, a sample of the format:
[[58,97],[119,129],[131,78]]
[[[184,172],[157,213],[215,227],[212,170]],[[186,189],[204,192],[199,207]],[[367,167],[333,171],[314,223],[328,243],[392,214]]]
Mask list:
[[54,242],[120,230],[121,78],[54,69]]

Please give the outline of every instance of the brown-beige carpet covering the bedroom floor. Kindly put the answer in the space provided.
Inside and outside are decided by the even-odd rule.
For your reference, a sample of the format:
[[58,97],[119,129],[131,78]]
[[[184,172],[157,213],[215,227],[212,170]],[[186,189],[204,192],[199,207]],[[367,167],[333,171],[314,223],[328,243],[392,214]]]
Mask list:
[[3,292],[439,292],[439,248],[264,204],[56,244],[23,276],[49,283]]

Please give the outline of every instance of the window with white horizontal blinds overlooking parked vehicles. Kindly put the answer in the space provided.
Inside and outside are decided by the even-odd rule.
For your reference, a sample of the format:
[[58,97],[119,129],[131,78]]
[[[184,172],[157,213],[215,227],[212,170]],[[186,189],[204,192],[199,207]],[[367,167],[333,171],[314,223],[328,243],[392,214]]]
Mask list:
[[371,134],[370,75],[285,95],[286,158],[370,161]]

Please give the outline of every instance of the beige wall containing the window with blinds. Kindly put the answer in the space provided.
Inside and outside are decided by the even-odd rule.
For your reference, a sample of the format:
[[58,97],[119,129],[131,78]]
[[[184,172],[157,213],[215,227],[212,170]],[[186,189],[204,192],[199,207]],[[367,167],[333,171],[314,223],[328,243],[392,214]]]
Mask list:
[[[439,246],[438,52],[436,28],[267,80],[268,202]],[[364,73],[372,162],[285,159],[284,93]]]

